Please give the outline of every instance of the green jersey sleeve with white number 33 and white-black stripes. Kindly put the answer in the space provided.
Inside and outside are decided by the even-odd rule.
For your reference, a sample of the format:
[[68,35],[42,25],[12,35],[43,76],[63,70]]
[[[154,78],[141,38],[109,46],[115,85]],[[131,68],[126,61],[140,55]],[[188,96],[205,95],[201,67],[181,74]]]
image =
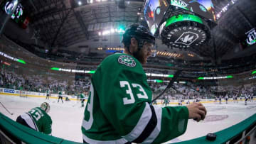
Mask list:
[[[114,62],[110,62],[114,65]],[[137,61],[138,64],[138,61]],[[186,131],[188,109],[151,106],[151,89],[142,65],[103,65],[93,79],[100,107],[114,129],[133,143],[163,143]],[[97,77],[97,74],[94,77]]]

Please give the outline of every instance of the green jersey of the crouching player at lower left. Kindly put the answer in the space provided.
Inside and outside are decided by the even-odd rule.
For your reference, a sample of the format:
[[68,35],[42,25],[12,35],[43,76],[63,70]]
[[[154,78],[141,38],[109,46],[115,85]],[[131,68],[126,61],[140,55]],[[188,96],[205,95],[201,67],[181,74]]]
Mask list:
[[[43,111],[40,107],[36,107],[34,109],[31,109],[31,111],[28,111],[28,115],[31,116],[31,118],[33,119],[33,123],[36,124],[37,131],[46,133],[48,135],[51,134],[51,126],[53,121],[51,120],[50,116],[46,113],[46,111]],[[28,125],[30,125],[29,121],[26,122],[28,123]]]

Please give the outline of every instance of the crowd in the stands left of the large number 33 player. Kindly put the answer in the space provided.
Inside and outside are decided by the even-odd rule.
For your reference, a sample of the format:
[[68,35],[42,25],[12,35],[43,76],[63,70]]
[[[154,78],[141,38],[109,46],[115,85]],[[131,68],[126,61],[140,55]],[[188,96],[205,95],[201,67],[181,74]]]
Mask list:
[[59,91],[73,95],[80,92],[88,92],[90,89],[90,77],[80,79],[56,79],[53,76],[43,74],[17,74],[14,71],[1,68],[0,87],[6,89],[25,90],[30,92],[46,92],[58,94]]

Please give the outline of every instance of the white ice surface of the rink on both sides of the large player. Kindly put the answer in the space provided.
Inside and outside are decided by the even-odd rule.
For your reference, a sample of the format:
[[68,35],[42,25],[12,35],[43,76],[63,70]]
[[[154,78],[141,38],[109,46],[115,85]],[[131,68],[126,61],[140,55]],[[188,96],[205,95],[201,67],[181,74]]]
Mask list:
[[[85,107],[80,107],[80,101],[64,101],[64,104],[62,104],[62,102],[57,103],[57,99],[46,100],[45,98],[23,98],[7,95],[0,95],[0,101],[6,109],[14,114],[9,114],[1,105],[0,112],[14,121],[21,113],[27,112],[47,101],[50,104],[49,115],[53,120],[52,135],[82,143],[81,124]],[[186,133],[174,140],[170,140],[168,143],[190,140],[204,136],[207,133],[221,131],[245,120],[256,112],[256,101],[248,101],[247,106],[245,106],[245,101],[238,101],[238,103],[229,101],[228,104],[218,104],[216,102],[204,105],[208,111],[205,121],[188,120]],[[218,118],[224,119],[216,121]]]

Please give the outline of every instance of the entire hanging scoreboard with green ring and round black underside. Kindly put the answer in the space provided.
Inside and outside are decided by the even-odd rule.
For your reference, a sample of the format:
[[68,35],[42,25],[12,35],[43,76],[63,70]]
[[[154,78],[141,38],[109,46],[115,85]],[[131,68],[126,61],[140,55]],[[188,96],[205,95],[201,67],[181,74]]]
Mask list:
[[211,0],[146,0],[144,17],[151,33],[174,48],[208,43],[216,26]]

